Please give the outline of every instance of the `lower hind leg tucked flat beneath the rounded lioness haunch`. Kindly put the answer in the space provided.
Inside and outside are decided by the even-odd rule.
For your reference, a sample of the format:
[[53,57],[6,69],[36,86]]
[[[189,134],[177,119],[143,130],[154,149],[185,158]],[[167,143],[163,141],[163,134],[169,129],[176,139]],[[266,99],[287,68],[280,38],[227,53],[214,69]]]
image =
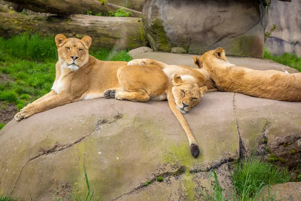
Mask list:
[[132,102],[146,102],[150,97],[145,91],[121,90],[115,93],[115,98]]

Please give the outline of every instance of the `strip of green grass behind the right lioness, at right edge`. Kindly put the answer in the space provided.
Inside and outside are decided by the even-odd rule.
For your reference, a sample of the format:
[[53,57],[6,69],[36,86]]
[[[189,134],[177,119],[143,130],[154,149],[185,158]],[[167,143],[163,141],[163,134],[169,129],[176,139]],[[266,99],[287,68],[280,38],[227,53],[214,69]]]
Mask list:
[[270,59],[277,63],[289,66],[291,68],[297,69],[301,72],[301,57],[298,57],[292,53],[284,53],[281,56],[271,55],[266,49],[264,49],[263,54],[264,59]]

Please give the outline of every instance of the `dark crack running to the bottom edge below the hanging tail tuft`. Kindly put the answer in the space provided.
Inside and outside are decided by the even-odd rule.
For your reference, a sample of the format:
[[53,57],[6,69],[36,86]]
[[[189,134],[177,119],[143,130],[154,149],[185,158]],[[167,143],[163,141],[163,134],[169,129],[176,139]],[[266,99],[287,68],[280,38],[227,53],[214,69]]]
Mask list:
[[[186,171],[186,166],[182,165],[182,166],[180,166],[180,167],[177,169],[177,171],[175,171],[175,172],[163,172],[163,173],[160,173],[160,174],[154,176],[152,179],[149,180],[149,181],[152,181],[152,183],[150,183],[149,185],[152,185],[154,182],[156,182],[158,176],[162,176],[162,177],[167,177],[167,176],[179,176],[179,175],[181,175],[181,174],[184,174],[185,171]],[[132,189],[132,190],[129,190],[129,191],[126,192],[126,193],[123,193],[123,194],[119,195],[118,197],[116,197],[116,198],[114,198],[114,199],[111,199],[111,201],[116,200],[116,199],[119,199],[120,197],[122,197],[122,196],[124,196],[124,195],[131,194],[131,193],[133,193],[133,192],[135,192],[135,191],[137,191],[137,190],[147,188],[149,185],[144,185],[144,183],[145,183],[145,182],[141,182],[139,186],[135,187],[135,188]]]

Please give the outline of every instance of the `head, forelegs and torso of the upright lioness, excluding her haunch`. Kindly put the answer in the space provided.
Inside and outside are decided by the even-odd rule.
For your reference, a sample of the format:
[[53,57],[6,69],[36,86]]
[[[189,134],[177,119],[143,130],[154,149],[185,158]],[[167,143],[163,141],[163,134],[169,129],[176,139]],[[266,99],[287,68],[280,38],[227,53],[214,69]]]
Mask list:
[[[119,85],[117,70],[127,62],[100,61],[90,56],[88,49],[92,39],[89,36],[80,40],[58,34],[55,41],[59,61],[52,90],[24,107],[15,116],[16,121],[81,99],[104,97],[105,89]],[[74,64],[71,56],[78,57]]]

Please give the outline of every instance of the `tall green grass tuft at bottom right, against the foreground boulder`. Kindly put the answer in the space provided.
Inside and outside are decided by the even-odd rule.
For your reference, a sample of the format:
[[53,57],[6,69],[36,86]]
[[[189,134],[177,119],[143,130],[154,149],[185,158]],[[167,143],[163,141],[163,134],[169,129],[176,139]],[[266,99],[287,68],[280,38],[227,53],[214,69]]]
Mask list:
[[223,189],[218,181],[215,171],[210,173],[210,179],[213,179],[214,186],[211,193],[201,193],[207,201],[212,200],[274,200],[275,192],[268,190],[268,197],[259,197],[265,187],[271,184],[284,183],[289,181],[291,173],[286,169],[274,166],[272,163],[264,162],[260,157],[252,156],[247,160],[238,161],[235,164],[234,173],[231,180],[234,185],[232,197],[226,198]]

